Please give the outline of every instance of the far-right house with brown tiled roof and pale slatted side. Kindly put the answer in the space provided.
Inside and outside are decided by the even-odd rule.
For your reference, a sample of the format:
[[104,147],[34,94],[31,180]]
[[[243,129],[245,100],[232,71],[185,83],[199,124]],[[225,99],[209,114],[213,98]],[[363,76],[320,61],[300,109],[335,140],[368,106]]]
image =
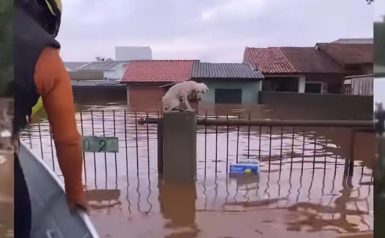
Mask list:
[[317,43],[344,70],[346,94],[373,95],[373,43]]

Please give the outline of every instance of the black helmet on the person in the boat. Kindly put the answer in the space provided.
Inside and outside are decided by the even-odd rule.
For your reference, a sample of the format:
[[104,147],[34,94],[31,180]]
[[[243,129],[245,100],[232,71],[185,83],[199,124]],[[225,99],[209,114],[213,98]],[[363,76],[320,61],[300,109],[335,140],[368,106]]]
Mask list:
[[24,9],[48,33],[56,37],[61,21],[61,0],[16,0],[15,4]]

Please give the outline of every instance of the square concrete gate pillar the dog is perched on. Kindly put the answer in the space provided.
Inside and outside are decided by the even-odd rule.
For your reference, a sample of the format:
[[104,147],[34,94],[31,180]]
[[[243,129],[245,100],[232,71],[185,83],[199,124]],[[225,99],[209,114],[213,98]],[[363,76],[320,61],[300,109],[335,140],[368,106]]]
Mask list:
[[163,116],[163,177],[194,181],[197,175],[197,116],[170,111]]

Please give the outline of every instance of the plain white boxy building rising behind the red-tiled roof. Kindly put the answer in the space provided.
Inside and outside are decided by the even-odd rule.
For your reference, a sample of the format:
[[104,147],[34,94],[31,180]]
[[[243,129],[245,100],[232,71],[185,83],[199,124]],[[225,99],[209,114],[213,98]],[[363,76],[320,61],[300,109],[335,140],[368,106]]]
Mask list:
[[150,47],[115,47],[115,60],[152,60],[152,51]]

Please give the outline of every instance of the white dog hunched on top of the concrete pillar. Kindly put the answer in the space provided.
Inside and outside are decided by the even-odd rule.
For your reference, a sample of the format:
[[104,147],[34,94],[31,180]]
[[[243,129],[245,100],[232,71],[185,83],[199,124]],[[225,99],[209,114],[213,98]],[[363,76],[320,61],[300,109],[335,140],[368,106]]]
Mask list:
[[166,111],[182,110],[180,104],[184,103],[189,111],[194,111],[191,108],[188,100],[197,98],[202,100],[202,96],[209,91],[209,88],[204,83],[195,81],[185,81],[172,86],[169,91],[163,96],[163,107]]

